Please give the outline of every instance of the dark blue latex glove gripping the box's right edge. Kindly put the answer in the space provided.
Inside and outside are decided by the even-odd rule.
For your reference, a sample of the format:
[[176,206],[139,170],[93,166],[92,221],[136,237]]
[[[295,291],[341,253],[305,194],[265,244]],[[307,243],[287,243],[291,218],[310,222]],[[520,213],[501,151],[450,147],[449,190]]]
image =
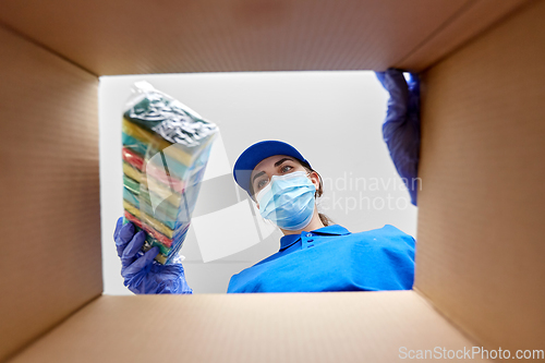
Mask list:
[[401,180],[409,190],[411,203],[416,205],[420,159],[420,80],[411,74],[408,82],[403,72],[388,69],[375,72],[388,90],[388,110],[383,124],[383,137]]

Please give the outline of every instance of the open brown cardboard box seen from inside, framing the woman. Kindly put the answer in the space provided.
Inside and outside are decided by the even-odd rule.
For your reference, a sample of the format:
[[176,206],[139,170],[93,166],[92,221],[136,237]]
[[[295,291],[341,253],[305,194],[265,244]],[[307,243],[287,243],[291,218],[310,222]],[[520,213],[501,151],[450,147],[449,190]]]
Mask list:
[[[544,19],[538,0],[2,1],[0,361],[543,352]],[[414,290],[101,294],[99,75],[388,66],[424,77]]]

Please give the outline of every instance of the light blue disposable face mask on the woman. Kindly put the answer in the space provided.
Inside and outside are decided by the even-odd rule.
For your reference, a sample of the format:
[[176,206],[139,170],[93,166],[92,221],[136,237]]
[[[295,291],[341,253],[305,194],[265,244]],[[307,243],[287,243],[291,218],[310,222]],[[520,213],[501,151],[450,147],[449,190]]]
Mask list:
[[259,214],[278,227],[295,231],[311,222],[314,214],[316,186],[304,171],[272,176],[259,193]]

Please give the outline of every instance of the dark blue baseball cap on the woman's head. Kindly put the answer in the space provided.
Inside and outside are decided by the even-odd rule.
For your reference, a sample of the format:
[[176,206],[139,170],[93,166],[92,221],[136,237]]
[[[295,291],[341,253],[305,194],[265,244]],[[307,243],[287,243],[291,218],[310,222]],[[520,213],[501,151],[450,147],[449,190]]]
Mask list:
[[233,177],[237,184],[240,185],[246,193],[250,193],[250,177],[254,168],[263,160],[274,155],[287,155],[311,164],[290,144],[281,141],[267,140],[255,143],[246,148],[234,162]]

